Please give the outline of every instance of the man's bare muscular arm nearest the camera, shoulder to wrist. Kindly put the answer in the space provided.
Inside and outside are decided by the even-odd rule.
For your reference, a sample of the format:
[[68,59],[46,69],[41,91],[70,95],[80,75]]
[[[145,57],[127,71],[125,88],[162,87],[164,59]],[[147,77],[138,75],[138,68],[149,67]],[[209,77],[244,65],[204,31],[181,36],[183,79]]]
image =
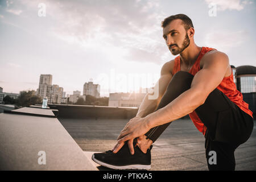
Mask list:
[[203,68],[196,73],[191,88],[167,106],[145,117],[148,127],[163,125],[191,113],[204,104],[212,92],[223,80],[229,69],[229,59],[225,53],[214,52],[205,55]]

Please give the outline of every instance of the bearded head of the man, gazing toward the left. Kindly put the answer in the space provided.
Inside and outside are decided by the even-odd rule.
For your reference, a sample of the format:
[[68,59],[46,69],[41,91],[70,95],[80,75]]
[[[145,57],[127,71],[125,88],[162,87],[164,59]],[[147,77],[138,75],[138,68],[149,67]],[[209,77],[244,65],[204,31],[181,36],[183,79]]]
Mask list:
[[162,22],[163,38],[173,55],[181,53],[190,44],[195,30],[191,19],[184,14],[167,17]]

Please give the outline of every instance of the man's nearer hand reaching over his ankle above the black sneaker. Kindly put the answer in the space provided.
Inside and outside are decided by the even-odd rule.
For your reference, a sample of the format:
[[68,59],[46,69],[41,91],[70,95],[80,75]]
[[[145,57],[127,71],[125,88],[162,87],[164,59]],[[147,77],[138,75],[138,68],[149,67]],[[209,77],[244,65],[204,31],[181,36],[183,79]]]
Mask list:
[[127,144],[131,154],[134,154],[133,140],[135,138],[141,138],[147,131],[150,130],[146,119],[140,117],[134,117],[126,124],[126,126],[121,131],[117,144],[113,148],[113,153],[117,153],[128,140]]

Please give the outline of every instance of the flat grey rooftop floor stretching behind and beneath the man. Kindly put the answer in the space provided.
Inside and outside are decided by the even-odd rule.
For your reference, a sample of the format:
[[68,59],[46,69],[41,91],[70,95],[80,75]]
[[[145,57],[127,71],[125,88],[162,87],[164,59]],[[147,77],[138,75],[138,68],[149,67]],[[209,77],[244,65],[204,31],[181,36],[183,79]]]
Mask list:
[[[87,155],[111,150],[129,119],[58,118]],[[255,126],[255,121],[254,121]],[[153,144],[151,170],[208,170],[204,136],[189,119],[171,123]],[[90,152],[91,151],[91,152]],[[256,170],[256,130],[246,143],[237,148],[236,170]],[[108,168],[100,167],[100,170]]]

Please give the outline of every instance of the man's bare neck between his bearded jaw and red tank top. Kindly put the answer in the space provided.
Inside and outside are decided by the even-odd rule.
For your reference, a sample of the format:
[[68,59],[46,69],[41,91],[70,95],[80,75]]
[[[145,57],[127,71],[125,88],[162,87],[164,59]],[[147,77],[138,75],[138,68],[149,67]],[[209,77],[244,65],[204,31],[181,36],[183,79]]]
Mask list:
[[190,44],[183,52],[180,53],[181,61],[186,65],[193,65],[199,56],[202,47]]

